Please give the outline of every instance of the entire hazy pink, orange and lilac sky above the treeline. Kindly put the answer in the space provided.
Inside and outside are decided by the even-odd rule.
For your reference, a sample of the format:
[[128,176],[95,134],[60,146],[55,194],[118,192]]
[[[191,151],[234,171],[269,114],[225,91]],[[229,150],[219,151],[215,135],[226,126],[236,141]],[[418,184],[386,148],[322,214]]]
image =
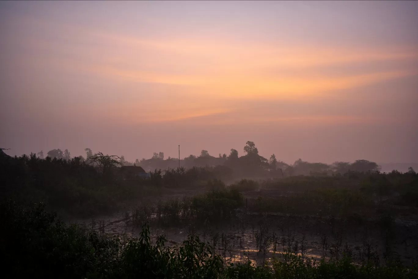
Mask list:
[[416,1],[2,1],[0,147],[418,162]]

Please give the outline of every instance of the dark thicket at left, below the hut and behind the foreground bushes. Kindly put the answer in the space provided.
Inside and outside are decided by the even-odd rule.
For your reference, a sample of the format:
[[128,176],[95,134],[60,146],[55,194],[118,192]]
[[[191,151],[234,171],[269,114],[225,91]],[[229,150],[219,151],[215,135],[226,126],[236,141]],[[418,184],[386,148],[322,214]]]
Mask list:
[[0,181],[3,198],[42,201],[54,210],[79,216],[112,212],[120,202],[157,190],[104,174],[79,157],[41,159],[35,154],[0,158]]

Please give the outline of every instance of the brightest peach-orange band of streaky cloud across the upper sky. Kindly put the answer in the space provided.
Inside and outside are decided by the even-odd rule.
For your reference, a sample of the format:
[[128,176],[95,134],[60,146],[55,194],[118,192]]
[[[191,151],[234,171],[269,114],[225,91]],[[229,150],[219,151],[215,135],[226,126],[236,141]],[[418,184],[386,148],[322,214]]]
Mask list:
[[[103,44],[120,49],[115,62],[91,65],[106,78],[127,82],[155,82],[199,86],[201,95],[234,98],[298,98],[329,90],[355,88],[417,73],[414,69],[359,74],[321,75],[321,67],[344,67],[372,61],[417,61],[416,50],[326,49],[321,46],[251,44],[238,41],[150,41],[129,36],[98,34]],[[141,54],[136,55],[135,53]],[[135,58],[137,57],[137,58]],[[126,64],[124,65],[124,63]],[[129,62],[128,62],[129,61]],[[133,63],[136,61],[136,64]],[[135,64],[135,65],[133,65]],[[280,74],[271,73],[280,68]],[[286,69],[301,74],[283,74]],[[194,70],[196,69],[196,71]]]

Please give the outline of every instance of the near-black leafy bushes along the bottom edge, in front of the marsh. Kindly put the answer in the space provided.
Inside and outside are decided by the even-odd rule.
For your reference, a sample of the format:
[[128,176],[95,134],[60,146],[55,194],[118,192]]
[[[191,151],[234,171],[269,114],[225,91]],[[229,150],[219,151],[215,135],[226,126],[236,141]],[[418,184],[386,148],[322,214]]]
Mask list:
[[195,235],[168,248],[164,237],[150,241],[148,225],[140,238],[99,234],[66,225],[42,204],[1,208],[1,253],[5,278],[417,278],[417,266],[397,261],[380,264],[372,257],[354,264],[353,251],[342,258],[314,261],[284,247],[270,265],[231,263]]

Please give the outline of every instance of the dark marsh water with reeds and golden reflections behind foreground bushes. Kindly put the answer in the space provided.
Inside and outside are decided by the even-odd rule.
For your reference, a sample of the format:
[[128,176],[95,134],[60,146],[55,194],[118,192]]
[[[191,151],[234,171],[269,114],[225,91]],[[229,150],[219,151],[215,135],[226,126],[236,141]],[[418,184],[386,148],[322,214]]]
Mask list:
[[[179,197],[181,195],[173,195]],[[141,225],[133,224],[133,212],[121,211],[95,219],[72,220],[100,233],[139,237]],[[292,251],[314,259],[341,257],[348,248],[357,261],[385,261],[388,257],[405,264],[417,260],[418,224],[395,219],[388,227],[376,220],[347,222],[317,215],[284,215],[278,212],[237,210],[237,218],[222,225],[195,225],[187,220],[177,225],[158,225],[150,218],[151,238],[164,235],[169,247],[181,246],[190,234],[208,242],[226,260],[268,261],[273,255]]]

